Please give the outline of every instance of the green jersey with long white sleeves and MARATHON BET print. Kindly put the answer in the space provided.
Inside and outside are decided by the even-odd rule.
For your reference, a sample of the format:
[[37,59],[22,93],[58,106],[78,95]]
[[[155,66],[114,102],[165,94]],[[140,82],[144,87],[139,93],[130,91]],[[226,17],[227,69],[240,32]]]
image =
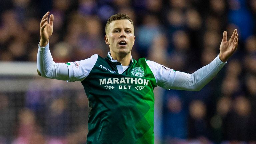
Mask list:
[[38,74],[52,79],[81,81],[89,99],[87,144],[153,144],[154,87],[193,90],[203,88],[225,65],[217,56],[192,74],[141,58],[123,67],[113,60],[91,58],[55,63],[49,50],[37,53]]

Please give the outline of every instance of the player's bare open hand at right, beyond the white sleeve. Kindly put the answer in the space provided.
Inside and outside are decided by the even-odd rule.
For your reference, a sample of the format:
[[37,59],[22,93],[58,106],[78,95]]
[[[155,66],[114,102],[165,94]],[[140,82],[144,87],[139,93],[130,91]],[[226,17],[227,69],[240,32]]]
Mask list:
[[227,32],[223,32],[223,38],[220,44],[219,58],[221,61],[226,62],[236,51],[238,45],[238,33],[237,29],[233,31],[233,34],[229,41],[227,41]]

